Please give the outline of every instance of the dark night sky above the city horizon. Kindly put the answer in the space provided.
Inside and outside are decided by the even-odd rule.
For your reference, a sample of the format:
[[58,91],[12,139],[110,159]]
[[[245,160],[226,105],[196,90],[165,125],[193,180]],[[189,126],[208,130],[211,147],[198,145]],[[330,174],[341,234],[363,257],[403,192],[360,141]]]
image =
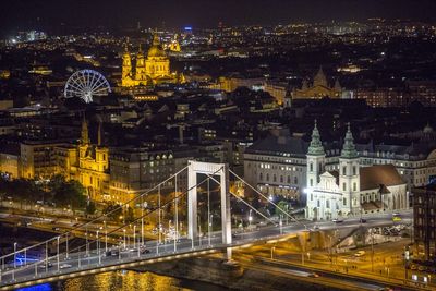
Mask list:
[[66,26],[216,27],[364,20],[436,20],[436,0],[1,0],[1,33]]

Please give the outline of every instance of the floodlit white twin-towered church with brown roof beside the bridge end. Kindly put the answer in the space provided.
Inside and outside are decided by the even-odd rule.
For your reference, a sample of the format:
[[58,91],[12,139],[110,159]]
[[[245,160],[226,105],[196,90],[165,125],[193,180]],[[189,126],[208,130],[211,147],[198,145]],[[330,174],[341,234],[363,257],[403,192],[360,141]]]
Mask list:
[[325,161],[315,122],[307,150],[307,219],[330,220],[409,207],[407,183],[392,165],[360,167],[350,125],[336,170],[326,170]]

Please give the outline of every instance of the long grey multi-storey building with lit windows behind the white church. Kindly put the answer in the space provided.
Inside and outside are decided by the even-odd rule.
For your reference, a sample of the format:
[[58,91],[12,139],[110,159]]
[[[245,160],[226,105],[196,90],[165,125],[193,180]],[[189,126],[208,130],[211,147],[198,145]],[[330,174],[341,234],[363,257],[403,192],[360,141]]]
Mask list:
[[[419,136],[421,138],[417,142],[409,145],[375,144],[373,141],[355,144],[359,165],[361,168],[392,165],[405,182],[408,192],[413,186],[425,185],[436,179],[435,132],[427,125]],[[290,136],[288,130],[272,132],[245,149],[245,179],[269,195],[283,195],[289,192],[288,189],[293,189],[293,196],[304,202],[303,190],[310,185],[306,175],[308,147],[310,143],[302,136]],[[337,142],[324,142],[323,147],[326,153],[324,169],[338,171],[340,145]],[[313,181],[315,183],[316,179]]]

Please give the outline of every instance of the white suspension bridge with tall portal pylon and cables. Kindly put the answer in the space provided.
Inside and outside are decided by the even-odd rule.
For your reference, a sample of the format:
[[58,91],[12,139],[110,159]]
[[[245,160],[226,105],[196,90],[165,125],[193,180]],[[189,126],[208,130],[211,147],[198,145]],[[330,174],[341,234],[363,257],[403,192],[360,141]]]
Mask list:
[[[187,171],[187,190],[182,192],[179,191],[179,185],[181,182],[180,177],[184,171]],[[204,179],[198,181],[198,174]],[[271,204],[281,213],[280,217],[286,218],[286,221],[291,221],[291,223],[283,223],[282,219],[278,222],[277,220],[271,220],[250,203],[229,191],[230,175],[234,180],[244,183],[259,198]],[[162,203],[161,187],[170,181],[174,185],[174,195]],[[210,182],[219,185],[221,217],[221,228],[219,231],[213,231],[211,226]],[[198,228],[197,187],[202,184],[207,184],[207,237],[203,237]],[[147,195],[156,192],[158,193],[157,207],[144,208],[143,205]],[[187,235],[183,237],[179,230],[179,204],[185,195],[187,195]],[[251,213],[253,210],[259,217],[271,222],[271,225],[256,228],[246,233],[235,234],[232,232],[230,196],[234,196],[237,201],[251,209],[250,219],[252,218]],[[119,207],[132,204],[141,205],[141,216],[129,223],[122,223],[119,227],[108,230],[106,228],[106,220],[111,215],[109,213],[32,246],[17,248],[15,243],[13,253],[0,257],[0,290],[11,290],[77,276],[124,269],[144,264],[154,264],[215,252],[225,252],[227,259],[230,260],[232,248],[234,247],[251,245],[256,242],[286,240],[287,235],[294,235],[299,231],[307,230],[304,221],[298,220],[293,215],[278,207],[268,196],[231,171],[226,163],[189,161],[187,167]],[[162,211],[168,209],[168,206],[173,206],[172,218],[174,221],[173,234],[169,241],[162,240],[164,234],[161,232]],[[113,211],[117,211],[117,209],[113,209]],[[146,241],[145,219],[155,216],[157,217],[156,222],[158,226],[157,239]],[[105,221],[104,229],[94,230],[92,228],[93,223],[100,223],[101,221]],[[69,242],[74,237],[73,232],[75,231],[86,233],[86,243],[71,248],[69,247]],[[120,233],[123,240],[119,241],[119,243],[111,243],[110,238],[114,235],[120,237]],[[130,240],[131,237],[133,237],[132,241]],[[53,248],[56,250],[55,252],[50,251]],[[39,253],[41,255],[36,259],[29,260],[28,256],[31,253]]]

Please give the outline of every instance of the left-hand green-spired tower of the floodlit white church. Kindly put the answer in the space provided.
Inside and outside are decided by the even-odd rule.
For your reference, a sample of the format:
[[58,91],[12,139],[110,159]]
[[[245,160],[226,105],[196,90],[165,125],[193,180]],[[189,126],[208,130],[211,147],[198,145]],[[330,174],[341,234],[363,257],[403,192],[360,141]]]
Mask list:
[[319,175],[324,172],[326,163],[326,153],[324,151],[323,144],[320,142],[320,136],[318,128],[315,120],[315,126],[312,132],[311,145],[307,149],[307,189],[313,189],[317,185]]

